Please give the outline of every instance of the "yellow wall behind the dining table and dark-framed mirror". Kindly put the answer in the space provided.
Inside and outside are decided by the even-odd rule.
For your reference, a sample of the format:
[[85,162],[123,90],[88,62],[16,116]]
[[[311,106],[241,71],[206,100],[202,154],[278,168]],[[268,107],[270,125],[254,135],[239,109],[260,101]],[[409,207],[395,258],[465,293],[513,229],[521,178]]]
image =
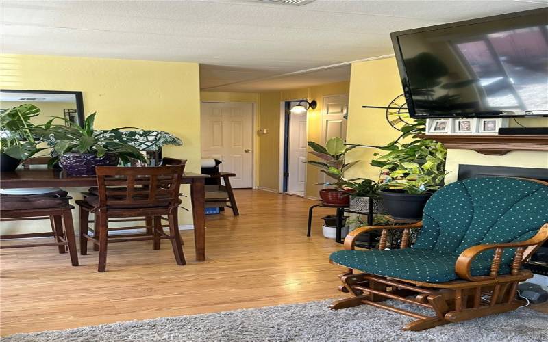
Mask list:
[[[1,66],[3,89],[82,91],[84,112],[97,111],[97,129],[134,126],[180,137],[184,146],[166,146],[165,155],[188,159],[186,170],[199,172],[197,63],[1,55]],[[190,192],[187,185],[183,191]],[[190,208],[188,198],[183,205]],[[192,224],[188,212],[179,217]]]

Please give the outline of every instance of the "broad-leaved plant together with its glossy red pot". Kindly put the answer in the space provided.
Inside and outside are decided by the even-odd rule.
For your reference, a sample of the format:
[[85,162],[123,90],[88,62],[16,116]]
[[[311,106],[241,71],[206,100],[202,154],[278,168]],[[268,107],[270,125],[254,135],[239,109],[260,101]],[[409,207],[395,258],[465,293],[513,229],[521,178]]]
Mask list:
[[331,205],[349,205],[348,193],[350,189],[345,189],[348,180],[345,179],[345,172],[354,166],[358,161],[345,163],[345,155],[355,146],[345,146],[345,142],[340,137],[332,137],[327,140],[325,146],[316,142],[308,142],[312,148],[310,154],[319,157],[323,161],[306,161],[306,163],[317,166],[320,171],[327,174],[334,182],[321,183],[327,186],[334,186],[332,189],[321,189],[320,198],[324,203]]

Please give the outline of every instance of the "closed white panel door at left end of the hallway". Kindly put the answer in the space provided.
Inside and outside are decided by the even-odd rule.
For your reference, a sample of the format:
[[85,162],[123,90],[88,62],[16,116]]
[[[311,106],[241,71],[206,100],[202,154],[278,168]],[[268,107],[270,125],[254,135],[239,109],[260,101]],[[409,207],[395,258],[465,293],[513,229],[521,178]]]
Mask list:
[[220,170],[234,172],[232,187],[253,187],[253,105],[201,104],[202,158],[220,159]]

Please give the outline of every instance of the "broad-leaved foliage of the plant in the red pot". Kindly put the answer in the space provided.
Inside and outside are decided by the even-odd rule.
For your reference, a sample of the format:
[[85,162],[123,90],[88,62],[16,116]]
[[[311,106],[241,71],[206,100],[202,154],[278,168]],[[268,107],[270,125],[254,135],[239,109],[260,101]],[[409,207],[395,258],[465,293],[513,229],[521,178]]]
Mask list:
[[323,185],[332,185],[336,189],[342,190],[348,182],[345,179],[345,172],[358,163],[358,161],[345,163],[345,155],[356,146],[346,146],[345,141],[340,137],[332,137],[327,140],[325,146],[321,146],[316,142],[308,142],[308,146],[312,148],[308,153],[319,157],[322,161],[306,161],[305,163],[320,168],[321,172],[335,180],[334,182],[322,183]]

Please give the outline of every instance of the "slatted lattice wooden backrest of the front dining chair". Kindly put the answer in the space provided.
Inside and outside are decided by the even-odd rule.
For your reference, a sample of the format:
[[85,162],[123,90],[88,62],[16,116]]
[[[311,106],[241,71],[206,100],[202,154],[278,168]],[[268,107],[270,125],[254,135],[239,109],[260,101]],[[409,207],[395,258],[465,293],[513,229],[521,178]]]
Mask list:
[[176,207],[184,166],[97,166],[99,208]]

